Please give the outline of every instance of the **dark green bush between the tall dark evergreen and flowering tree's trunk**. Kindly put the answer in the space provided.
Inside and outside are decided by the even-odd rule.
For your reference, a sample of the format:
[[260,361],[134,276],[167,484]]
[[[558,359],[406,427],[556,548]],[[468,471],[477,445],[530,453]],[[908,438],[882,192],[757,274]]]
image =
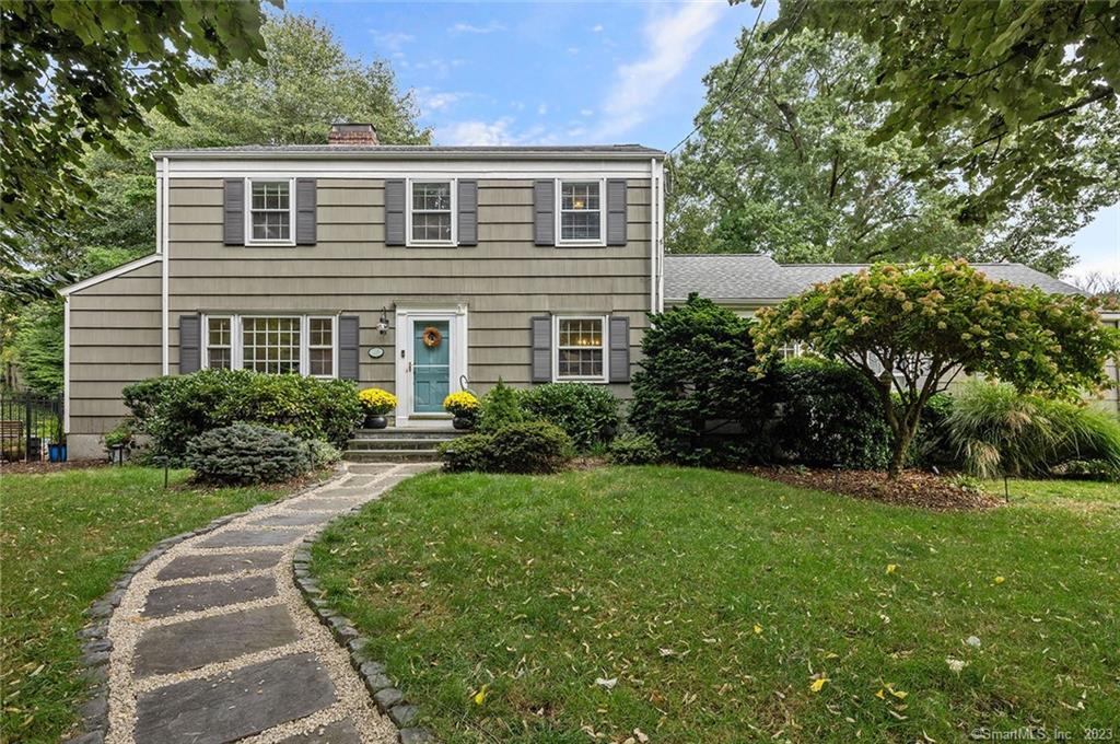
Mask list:
[[859,372],[803,357],[780,363],[771,376],[780,413],[769,436],[782,457],[825,467],[886,467],[890,430],[876,390]]

